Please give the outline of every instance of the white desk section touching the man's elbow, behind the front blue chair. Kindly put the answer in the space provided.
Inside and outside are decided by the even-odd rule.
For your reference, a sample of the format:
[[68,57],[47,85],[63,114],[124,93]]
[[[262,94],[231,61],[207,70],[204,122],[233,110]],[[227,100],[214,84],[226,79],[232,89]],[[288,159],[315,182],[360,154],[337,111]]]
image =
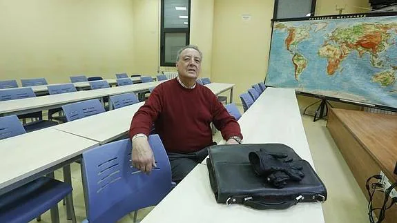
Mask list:
[[143,104],[144,102],[140,102],[123,108],[109,110],[106,113],[77,119],[52,126],[51,128],[105,144],[128,133],[134,114]]

